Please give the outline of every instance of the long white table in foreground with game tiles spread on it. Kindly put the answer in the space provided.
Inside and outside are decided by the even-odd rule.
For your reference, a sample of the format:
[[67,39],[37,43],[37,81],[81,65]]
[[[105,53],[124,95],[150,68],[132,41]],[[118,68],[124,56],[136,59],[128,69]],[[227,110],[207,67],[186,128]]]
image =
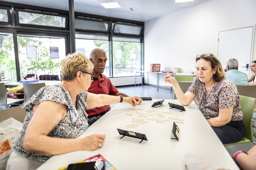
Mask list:
[[[154,102],[159,100],[144,100],[135,109],[143,108],[145,110],[138,111],[128,110],[133,108],[131,104],[118,103],[79,137],[105,134],[106,139],[103,147],[95,151],[82,150],[54,155],[42,164],[38,170],[56,170],[97,154],[101,154],[117,170],[185,170],[184,156],[188,152],[199,155],[222,168],[239,170],[194,102],[189,106],[184,106],[186,111],[180,112],[180,110],[174,108],[169,109],[168,104],[168,102],[180,104],[178,100],[165,100],[163,106],[151,107]],[[160,120],[168,117],[184,119],[184,124],[176,123],[180,129],[180,139],[178,141],[170,139],[174,137],[172,134],[173,119],[170,119],[170,122],[157,123],[145,118],[148,123],[139,124],[135,128],[126,127],[132,123],[132,118],[141,118],[138,117],[139,114],[136,114],[136,112],[147,116],[148,113],[145,111],[148,110],[154,110],[155,112],[152,114],[159,113],[166,116],[165,118],[159,118],[154,115],[148,116],[148,118],[159,118]],[[172,112],[172,114],[162,113],[163,111]],[[127,113],[132,114],[132,116],[125,115]],[[118,128],[146,134],[148,141],[139,143],[140,139],[126,136],[120,139],[122,135],[118,133]]]

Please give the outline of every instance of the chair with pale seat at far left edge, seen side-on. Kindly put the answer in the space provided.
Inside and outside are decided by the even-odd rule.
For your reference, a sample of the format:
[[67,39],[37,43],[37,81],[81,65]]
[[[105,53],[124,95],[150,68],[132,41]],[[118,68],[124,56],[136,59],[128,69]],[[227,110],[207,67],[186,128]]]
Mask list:
[[9,99],[7,98],[7,91],[4,86],[4,83],[0,83],[0,106],[5,106],[5,108],[8,108],[8,105],[21,102],[24,99]]

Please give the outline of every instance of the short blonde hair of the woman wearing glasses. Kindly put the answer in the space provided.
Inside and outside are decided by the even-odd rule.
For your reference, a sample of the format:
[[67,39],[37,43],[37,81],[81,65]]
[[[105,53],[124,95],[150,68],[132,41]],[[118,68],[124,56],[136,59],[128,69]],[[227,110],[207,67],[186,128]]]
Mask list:
[[89,72],[93,70],[93,63],[80,53],[68,54],[61,62],[62,79],[71,81],[75,78],[78,71]]

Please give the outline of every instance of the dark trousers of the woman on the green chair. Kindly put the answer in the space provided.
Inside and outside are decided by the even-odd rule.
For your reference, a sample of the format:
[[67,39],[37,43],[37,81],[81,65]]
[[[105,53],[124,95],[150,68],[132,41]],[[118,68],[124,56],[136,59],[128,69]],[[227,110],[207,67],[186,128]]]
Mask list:
[[223,144],[239,142],[245,137],[242,121],[230,121],[221,127],[212,127]]

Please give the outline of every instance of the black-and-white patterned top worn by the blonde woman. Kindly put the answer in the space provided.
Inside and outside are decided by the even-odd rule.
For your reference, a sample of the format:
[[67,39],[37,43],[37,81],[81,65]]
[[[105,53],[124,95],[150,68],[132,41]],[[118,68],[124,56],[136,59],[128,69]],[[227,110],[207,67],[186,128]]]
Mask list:
[[69,95],[68,91],[65,90],[62,86],[46,86],[38,90],[38,92],[36,92],[30,98],[29,102],[25,103],[25,105],[22,106],[22,108],[27,111],[27,115],[23,123],[22,131],[20,132],[19,138],[16,141],[16,146],[14,147],[15,153],[27,159],[39,162],[45,162],[53,156],[27,152],[23,147],[23,139],[27,126],[29,125],[29,122],[34,115],[34,104],[39,104],[45,100],[51,100],[57,103],[65,104],[67,106],[67,115],[63,120],[59,122],[59,124],[57,124],[56,127],[53,128],[53,130],[47,136],[54,138],[72,139],[79,137],[89,126],[87,122],[88,115],[85,112],[85,110],[87,110],[88,108],[88,106],[86,105],[86,99],[86,91],[83,91],[82,93],[76,96],[76,110],[76,107],[71,99],[71,96]]

